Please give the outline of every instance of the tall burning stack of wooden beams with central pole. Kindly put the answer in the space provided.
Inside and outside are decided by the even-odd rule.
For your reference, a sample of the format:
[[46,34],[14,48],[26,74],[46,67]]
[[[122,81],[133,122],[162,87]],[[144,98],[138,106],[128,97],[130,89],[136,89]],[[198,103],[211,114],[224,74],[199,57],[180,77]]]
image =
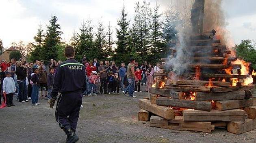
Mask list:
[[162,59],[163,71],[155,74],[149,100],[139,101],[138,119],[174,130],[211,132],[223,127],[235,134],[254,130],[249,63],[237,59],[221,42],[222,33],[204,32],[204,7],[204,0],[195,0],[193,35],[179,37],[175,53]]

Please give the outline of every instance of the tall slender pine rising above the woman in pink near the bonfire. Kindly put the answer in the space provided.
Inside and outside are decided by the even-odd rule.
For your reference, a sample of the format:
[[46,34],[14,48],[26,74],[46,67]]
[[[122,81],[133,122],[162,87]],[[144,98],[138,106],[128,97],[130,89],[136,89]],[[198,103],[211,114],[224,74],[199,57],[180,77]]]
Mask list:
[[[151,53],[153,55],[153,60],[160,59],[161,57],[165,56],[165,44],[163,42],[163,32],[162,27],[163,23],[160,21],[161,15],[158,14],[159,12],[159,5],[156,2],[156,6],[154,8],[154,13],[152,15],[152,33],[151,33]],[[151,61],[151,60],[150,60]]]

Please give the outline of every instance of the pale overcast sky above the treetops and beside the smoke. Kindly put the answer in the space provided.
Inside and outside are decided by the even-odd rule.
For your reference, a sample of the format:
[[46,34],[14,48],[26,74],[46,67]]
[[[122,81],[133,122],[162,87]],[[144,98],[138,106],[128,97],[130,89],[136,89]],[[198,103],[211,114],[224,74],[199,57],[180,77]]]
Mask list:
[[[132,20],[135,2],[143,0],[124,0],[129,19]],[[155,0],[147,0],[154,7]],[[161,12],[171,0],[157,0],[161,4]],[[33,37],[41,23],[45,29],[48,19],[53,13],[59,19],[63,40],[68,40],[73,29],[78,32],[80,23],[90,19],[93,24],[102,17],[107,26],[111,23],[113,31],[117,26],[123,0],[0,0],[0,39],[5,48],[11,42],[33,42]],[[223,0],[227,29],[235,44],[243,39],[256,39],[256,0]],[[94,27],[96,30],[96,27]],[[115,40],[114,36],[114,40]]]

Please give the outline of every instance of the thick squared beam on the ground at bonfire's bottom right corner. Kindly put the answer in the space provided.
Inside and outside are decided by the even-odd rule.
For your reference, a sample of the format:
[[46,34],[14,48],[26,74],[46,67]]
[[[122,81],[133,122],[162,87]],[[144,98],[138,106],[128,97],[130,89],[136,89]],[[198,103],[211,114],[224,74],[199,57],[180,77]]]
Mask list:
[[233,134],[242,134],[254,129],[256,129],[256,120],[253,119],[245,119],[245,122],[228,123],[228,132]]

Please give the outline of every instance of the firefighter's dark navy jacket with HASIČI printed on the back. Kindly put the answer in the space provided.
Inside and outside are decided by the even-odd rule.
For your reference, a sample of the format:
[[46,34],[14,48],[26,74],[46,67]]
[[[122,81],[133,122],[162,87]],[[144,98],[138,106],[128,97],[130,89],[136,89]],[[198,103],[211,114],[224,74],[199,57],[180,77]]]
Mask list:
[[67,59],[56,69],[51,96],[56,98],[58,92],[69,93],[78,90],[83,93],[85,87],[85,66],[75,59]]

